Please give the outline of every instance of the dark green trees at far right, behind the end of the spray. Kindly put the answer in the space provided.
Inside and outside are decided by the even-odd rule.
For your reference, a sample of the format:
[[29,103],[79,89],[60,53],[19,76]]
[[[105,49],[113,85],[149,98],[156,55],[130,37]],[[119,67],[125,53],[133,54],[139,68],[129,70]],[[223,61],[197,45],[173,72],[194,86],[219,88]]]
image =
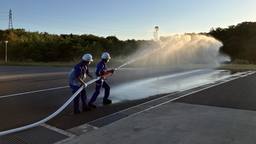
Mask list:
[[256,22],[245,21],[228,28],[211,28],[208,34],[222,41],[220,51],[230,55],[233,60],[256,62]]

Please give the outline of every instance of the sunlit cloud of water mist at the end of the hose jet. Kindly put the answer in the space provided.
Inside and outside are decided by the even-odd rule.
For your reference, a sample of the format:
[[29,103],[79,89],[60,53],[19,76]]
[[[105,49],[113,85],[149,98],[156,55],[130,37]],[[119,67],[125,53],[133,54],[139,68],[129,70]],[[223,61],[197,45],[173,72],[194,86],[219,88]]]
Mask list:
[[[230,61],[230,57],[219,52],[223,44],[204,35],[175,35],[161,37],[158,42],[159,67],[204,65],[204,68],[216,68],[222,62]],[[141,48],[133,57],[143,55],[156,49],[156,46]],[[179,53],[179,59],[178,59]],[[148,53],[143,58],[129,64],[131,67],[156,67],[156,52]],[[200,66],[201,66],[200,65]]]

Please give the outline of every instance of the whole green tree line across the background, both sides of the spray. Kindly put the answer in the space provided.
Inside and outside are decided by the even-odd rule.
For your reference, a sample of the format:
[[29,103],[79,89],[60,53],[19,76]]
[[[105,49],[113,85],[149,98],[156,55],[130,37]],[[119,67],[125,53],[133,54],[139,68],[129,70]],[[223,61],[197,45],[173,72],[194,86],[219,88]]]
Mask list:
[[[185,33],[194,35],[195,33]],[[242,22],[227,28],[211,28],[208,33],[223,43],[220,52],[230,55],[232,60],[248,60],[256,63],[256,22]],[[164,37],[160,37],[160,40]],[[116,36],[106,38],[92,34],[49,34],[48,32],[30,32],[25,29],[0,29],[0,60],[5,59],[5,43],[7,40],[7,58],[9,60],[34,60],[43,62],[70,61],[80,58],[85,53],[93,57],[101,57],[108,52],[113,57],[127,56],[139,48],[155,47],[156,42],[128,39],[119,40]]]

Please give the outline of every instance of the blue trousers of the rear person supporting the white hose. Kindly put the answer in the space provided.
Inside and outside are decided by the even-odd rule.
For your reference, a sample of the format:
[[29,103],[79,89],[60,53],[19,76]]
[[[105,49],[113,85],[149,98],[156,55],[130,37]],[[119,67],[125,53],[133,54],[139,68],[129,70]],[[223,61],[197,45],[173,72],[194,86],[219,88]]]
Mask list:
[[[77,85],[70,85],[70,88],[72,90],[72,93],[75,94],[75,92],[77,92],[77,90],[79,89],[79,86]],[[82,108],[87,108],[87,92],[86,89],[82,89],[81,92],[79,92],[77,94],[77,96],[74,98],[74,110],[78,110],[79,109],[79,98],[81,98],[82,101]]]

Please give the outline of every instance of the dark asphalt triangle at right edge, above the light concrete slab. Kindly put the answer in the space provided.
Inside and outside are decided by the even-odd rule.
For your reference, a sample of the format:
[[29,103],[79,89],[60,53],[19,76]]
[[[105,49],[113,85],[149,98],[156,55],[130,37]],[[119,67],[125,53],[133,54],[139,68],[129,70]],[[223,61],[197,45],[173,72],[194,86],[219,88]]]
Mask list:
[[173,102],[256,111],[256,74],[225,82]]

